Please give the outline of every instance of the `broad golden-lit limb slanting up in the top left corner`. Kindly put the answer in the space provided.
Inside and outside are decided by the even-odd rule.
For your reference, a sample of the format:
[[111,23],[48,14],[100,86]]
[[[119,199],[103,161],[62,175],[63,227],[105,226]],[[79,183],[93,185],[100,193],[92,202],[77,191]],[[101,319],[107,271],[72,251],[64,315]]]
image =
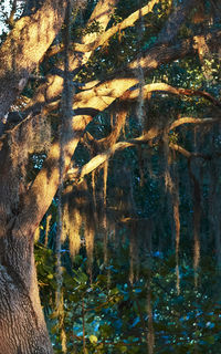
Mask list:
[[30,73],[36,67],[60,31],[65,7],[65,0],[45,0],[42,8],[34,14],[17,21],[1,45],[0,118],[23,90]]

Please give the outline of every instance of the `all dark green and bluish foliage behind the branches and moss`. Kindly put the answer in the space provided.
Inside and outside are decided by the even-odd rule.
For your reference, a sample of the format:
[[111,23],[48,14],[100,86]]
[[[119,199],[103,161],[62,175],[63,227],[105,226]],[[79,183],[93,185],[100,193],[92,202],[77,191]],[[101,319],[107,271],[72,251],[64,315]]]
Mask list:
[[[151,49],[170,14],[172,4],[179,2],[160,1],[154,11],[144,18],[145,31],[139,38],[140,21],[117,32],[105,45],[94,52],[74,80],[83,83],[94,79],[106,80],[112,77],[116,69],[131,62],[138,52]],[[78,40],[83,34],[103,33],[103,28],[96,20],[85,27],[95,4],[96,1],[88,1],[83,14],[81,11],[74,13],[73,41]],[[146,4],[147,1],[139,1],[139,6]],[[119,1],[112,14],[110,24],[119,23],[137,8],[137,0]],[[206,10],[207,14],[210,14],[211,7],[207,6]],[[7,17],[6,11],[1,12],[1,19],[4,22]],[[207,24],[210,29],[220,25],[215,20],[211,23]],[[199,30],[190,15],[188,22],[181,27],[178,39],[187,39],[199,33]],[[6,32],[1,34],[1,41],[4,38]],[[60,42],[62,39],[57,37],[56,41]],[[41,75],[48,74],[54,65],[60,64],[60,61],[61,54],[50,59],[45,55],[39,72]],[[204,75],[203,65],[210,71],[209,80]],[[148,73],[145,83],[162,82],[175,87],[207,90],[219,98],[220,72],[219,55],[208,55],[204,63],[196,55],[161,65],[158,70]],[[38,82],[29,83],[22,93],[23,96],[32,97],[38,86]],[[76,87],[77,90],[80,88]],[[151,127],[164,129],[182,116],[201,118],[217,116],[212,104],[198,96],[172,96],[168,93],[155,92],[143,103],[146,113],[144,126],[138,122],[137,105],[125,106],[128,117],[125,132],[119,139],[133,139]],[[88,125],[87,132],[95,139],[99,140],[110,134],[116,123],[114,122],[112,126],[113,112],[117,113],[115,107],[99,113]],[[50,113],[49,121],[52,125],[53,140],[57,137],[60,126],[59,110]],[[210,128],[193,131],[188,126],[169,132],[169,143],[180,144],[190,152],[210,154],[209,158],[192,159],[191,164],[175,153],[168,156],[165,153],[161,136],[149,145],[145,143],[138,148],[130,147],[114,155],[108,164],[107,180],[107,223],[108,227],[109,225],[114,227],[110,232],[108,228],[105,231],[112,233],[115,230],[116,240],[107,242],[108,261],[104,261],[105,246],[101,242],[104,229],[101,231],[101,228],[94,226],[96,243],[91,272],[84,244],[80,254],[72,260],[69,241],[64,241],[61,290],[63,310],[60,314],[56,312],[55,304],[57,284],[53,251],[57,228],[57,198],[54,198],[48,210],[48,216],[52,216],[49,239],[45,242],[45,216],[40,232],[42,243],[35,247],[35,261],[40,294],[55,353],[62,353],[61,342],[65,333],[67,353],[143,354],[147,353],[148,335],[151,331],[156,353],[217,354],[221,352],[220,273],[215,268],[215,230],[212,229],[215,218],[220,215],[220,206],[218,205],[214,218],[209,212],[213,201],[217,200],[214,196],[219,196],[220,192],[220,184],[215,183],[214,186],[214,183],[211,183],[212,174],[210,173],[211,167],[215,165],[217,175],[220,175],[220,162],[214,159],[215,153],[220,152],[219,132],[219,124],[213,131]],[[93,153],[96,155],[99,152]],[[94,156],[93,153],[91,154],[91,149],[80,143],[74,156],[75,165],[83,166]],[[46,152],[34,153],[29,157],[25,176],[29,184],[42,168],[45,157]],[[202,258],[197,270],[192,267],[196,191],[193,183],[196,180],[190,177],[190,167],[199,181],[201,192],[202,221],[199,233]],[[171,179],[178,180],[179,185],[179,247],[181,250],[179,264],[177,254],[173,254],[176,232],[172,194],[165,188],[167,168]],[[104,208],[102,201],[104,181],[103,173],[97,175],[96,211],[101,218],[99,209]],[[87,183],[91,190],[90,178]],[[87,204],[90,202],[91,200],[87,200]],[[80,209],[84,214],[82,205]],[[135,220],[135,222],[127,225],[125,220]],[[102,221],[98,219],[97,223],[102,225]],[[84,229],[85,225],[82,226],[82,233]],[[110,238],[110,235],[108,237]],[[82,239],[82,243],[83,241],[85,240]],[[131,241],[134,243],[130,243]],[[43,243],[48,243],[48,248],[43,247]],[[133,261],[134,269],[131,269]],[[177,268],[179,268],[180,293],[177,293]],[[129,281],[133,272],[134,280]],[[198,287],[194,284],[196,277],[199,279]],[[149,304],[148,299],[150,299]]]

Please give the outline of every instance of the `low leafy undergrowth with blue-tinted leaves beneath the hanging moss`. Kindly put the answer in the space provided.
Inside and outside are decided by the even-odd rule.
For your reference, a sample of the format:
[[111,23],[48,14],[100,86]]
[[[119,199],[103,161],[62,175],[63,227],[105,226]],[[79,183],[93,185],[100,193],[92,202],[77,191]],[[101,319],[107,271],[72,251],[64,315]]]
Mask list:
[[[113,257],[115,254],[115,257]],[[117,257],[116,257],[117,256]],[[61,352],[61,329],[54,313],[54,269],[52,252],[36,248],[36,263],[48,325],[55,353]],[[214,260],[204,258],[199,270],[200,285],[194,288],[191,260],[180,259],[180,294],[176,290],[173,254],[144,254],[139,275],[128,282],[128,248],[109,254],[108,267],[97,259],[93,279],[86,273],[86,259],[76,256],[71,271],[64,270],[64,325],[69,353],[146,353],[149,331],[147,296],[151,294],[151,314],[156,353],[217,353],[220,348],[221,303],[211,296],[208,278],[214,281]],[[51,266],[50,266],[51,264]],[[211,267],[207,267],[211,264]],[[220,292],[220,289],[219,289]]]

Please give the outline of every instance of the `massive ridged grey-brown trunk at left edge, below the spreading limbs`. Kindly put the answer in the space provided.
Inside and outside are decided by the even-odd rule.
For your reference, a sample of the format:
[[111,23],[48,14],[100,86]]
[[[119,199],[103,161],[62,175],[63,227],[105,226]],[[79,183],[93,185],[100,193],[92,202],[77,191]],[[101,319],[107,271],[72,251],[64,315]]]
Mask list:
[[29,227],[33,210],[29,223],[20,218],[25,189],[9,145],[0,152],[0,354],[50,354],[34,264],[35,226]]

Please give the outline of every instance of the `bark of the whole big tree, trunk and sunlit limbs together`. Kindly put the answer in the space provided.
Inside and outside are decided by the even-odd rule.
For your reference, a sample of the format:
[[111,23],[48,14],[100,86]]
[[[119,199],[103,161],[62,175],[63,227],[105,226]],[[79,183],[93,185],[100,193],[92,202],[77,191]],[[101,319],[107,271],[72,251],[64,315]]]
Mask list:
[[[31,4],[33,1],[31,0],[29,3]],[[15,23],[14,29],[0,49],[0,121],[24,87],[29,75],[52,44],[64,21],[66,1],[45,0],[41,3],[43,4],[40,8],[38,6],[33,13],[21,18]],[[80,70],[88,61],[93,51],[104,42],[105,35],[110,38],[109,30],[105,32],[105,29],[116,3],[117,0],[97,2],[88,23],[96,19],[104,33],[94,32],[83,35],[78,45],[82,45],[85,51],[81,55],[76,53],[72,56],[70,60],[71,71]],[[149,1],[144,11],[148,13],[156,3],[158,3],[157,0]],[[189,0],[183,4],[188,6],[187,9],[191,8]],[[65,127],[64,174],[67,171],[80,138],[93,116],[107,108],[116,98],[124,100],[125,93],[125,100],[135,98],[137,91],[131,88],[138,83],[137,65],[144,70],[144,73],[148,73],[161,64],[197,53],[196,38],[170,43],[173,40],[171,32],[175,32],[175,21],[179,18],[176,27],[177,33],[188,13],[187,9],[179,9],[169,19],[166,27],[166,40],[161,41],[164,44],[158,42],[148,49],[143,56],[125,64],[126,67],[116,72],[114,79],[98,82],[92,88],[75,95],[73,104],[75,115],[69,117]],[[30,11],[30,7],[28,7],[25,13],[29,14]],[[123,28],[131,25],[138,18],[136,12],[134,17],[127,19],[128,23],[127,21],[123,22]],[[113,30],[114,33],[116,33],[116,28]],[[218,30],[204,35],[209,48],[220,45],[220,33]],[[62,70],[62,65],[59,69]],[[148,87],[146,88],[148,91]],[[173,94],[194,94],[192,91],[180,92],[168,85],[157,90],[169,91]],[[62,91],[63,77],[51,73],[46,77],[46,83],[40,85],[33,100],[25,107],[27,112],[31,112],[34,118],[34,114],[39,113],[42,107],[45,108],[45,112],[51,106],[57,107]],[[40,108],[36,110],[36,107]],[[85,175],[99,166],[101,163],[106,162],[115,150],[151,139],[158,134],[159,129],[156,128],[148,132],[146,136],[131,142],[117,143],[106,154],[96,156],[91,164],[82,169],[82,174]],[[10,134],[6,134],[0,142],[0,354],[50,354],[53,351],[39,299],[33,243],[34,231],[59,187],[60,144],[54,139],[42,169],[27,190],[19,175],[20,165],[19,163],[14,165],[11,156],[10,144]],[[18,156],[22,154],[22,149],[19,149]]]

